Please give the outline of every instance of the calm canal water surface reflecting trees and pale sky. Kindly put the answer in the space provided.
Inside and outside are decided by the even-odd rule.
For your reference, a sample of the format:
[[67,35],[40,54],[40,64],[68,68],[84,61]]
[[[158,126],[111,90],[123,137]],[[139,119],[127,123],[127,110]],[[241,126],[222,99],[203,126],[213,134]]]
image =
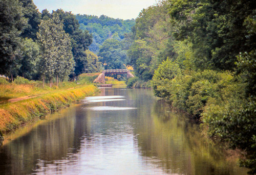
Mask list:
[[0,174],[246,174],[152,91],[106,88],[6,136]]

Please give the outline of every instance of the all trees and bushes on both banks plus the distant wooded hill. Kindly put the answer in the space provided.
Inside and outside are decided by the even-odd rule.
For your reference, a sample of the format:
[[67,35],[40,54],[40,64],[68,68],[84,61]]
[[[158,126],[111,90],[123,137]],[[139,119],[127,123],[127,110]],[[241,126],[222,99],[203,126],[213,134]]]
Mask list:
[[99,61],[105,69],[129,64],[137,76],[127,81],[129,87],[152,80],[155,95],[199,119],[210,137],[241,149],[241,166],[251,174],[255,41],[252,0],[163,0],[136,20],[59,9],[39,13],[32,0],[0,1],[1,74],[62,80],[98,71]]

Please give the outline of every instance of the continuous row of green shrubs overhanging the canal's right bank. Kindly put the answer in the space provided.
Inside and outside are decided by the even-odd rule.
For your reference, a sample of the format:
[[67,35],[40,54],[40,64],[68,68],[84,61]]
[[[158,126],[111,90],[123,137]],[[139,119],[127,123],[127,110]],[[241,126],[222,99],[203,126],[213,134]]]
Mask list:
[[251,168],[248,173],[254,174],[256,97],[255,84],[250,84],[254,79],[255,70],[239,74],[227,70],[184,70],[167,59],[155,71],[152,86],[155,95],[200,119],[209,136],[244,151],[245,159],[240,165]]

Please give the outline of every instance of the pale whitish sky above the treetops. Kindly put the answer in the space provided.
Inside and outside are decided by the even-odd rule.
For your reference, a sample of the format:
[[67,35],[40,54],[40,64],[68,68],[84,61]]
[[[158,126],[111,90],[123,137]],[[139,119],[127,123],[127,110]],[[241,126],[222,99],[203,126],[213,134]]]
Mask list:
[[141,10],[155,5],[156,0],[34,0],[34,4],[41,12],[47,9],[62,9],[73,14],[106,15],[112,18],[136,18]]

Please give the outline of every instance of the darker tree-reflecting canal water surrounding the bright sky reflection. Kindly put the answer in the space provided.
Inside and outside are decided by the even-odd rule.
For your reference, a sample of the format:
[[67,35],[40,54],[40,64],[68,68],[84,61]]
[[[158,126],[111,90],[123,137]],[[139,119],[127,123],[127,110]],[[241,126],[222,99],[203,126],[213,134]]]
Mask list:
[[0,150],[0,174],[30,174],[33,168],[40,169],[56,163],[55,160],[69,159],[70,153],[79,159],[80,154],[76,153],[80,152],[83,144],[90,145],[95,141],[93,139],[97,140],[99,130],[103,137],[108,137],[104,133],[111,129],[125,134],[114,124],[123,122],[129,134],[135,134],[134,143],[138,143],[145,164],[154,164],[168,173],[243,174],[239,171],[241,169],[234,168],[237,165],[230,167],[232,165],[223,160],[220,149],[202,138],[197,125],[190,123],[186,116],[172,111],[162,101],[156,101],[152,91],[105,90],[105,95],[120,94],[127,100],[93,106],[138,109],[95,112],[83,109],[90,107],[90,104],[81,104],[54,113],[51,120],[42,122],[37,128],[30,128],[29,134],[4,145]]

